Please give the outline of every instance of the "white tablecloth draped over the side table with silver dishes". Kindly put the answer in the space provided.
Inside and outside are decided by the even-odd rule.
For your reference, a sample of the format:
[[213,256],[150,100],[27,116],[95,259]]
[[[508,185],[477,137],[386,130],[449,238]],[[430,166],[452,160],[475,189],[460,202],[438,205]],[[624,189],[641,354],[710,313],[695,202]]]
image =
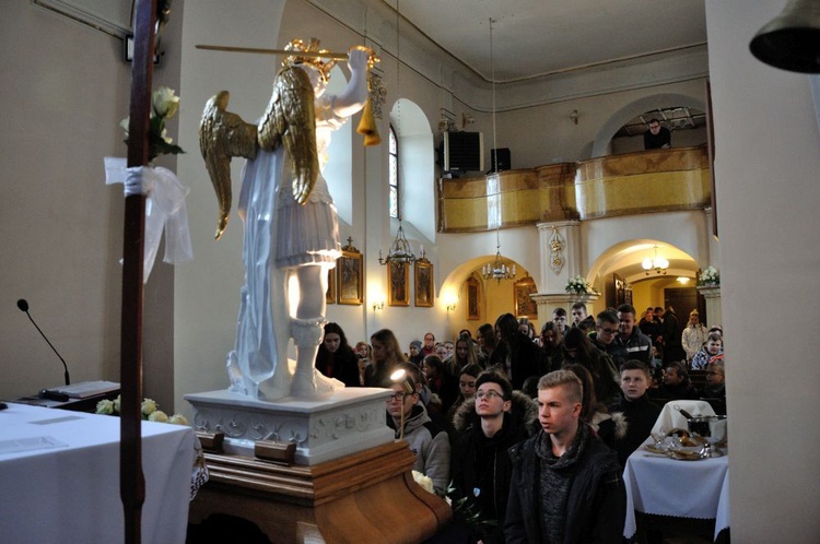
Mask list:
[[[646,444],[652,444],[647,440]],[[729,527],[728,457],[679,461],[648,457],[643,446],[626,460],[626,523],[635,534],[635,510],[658,516],[715,520],[715,539]]]

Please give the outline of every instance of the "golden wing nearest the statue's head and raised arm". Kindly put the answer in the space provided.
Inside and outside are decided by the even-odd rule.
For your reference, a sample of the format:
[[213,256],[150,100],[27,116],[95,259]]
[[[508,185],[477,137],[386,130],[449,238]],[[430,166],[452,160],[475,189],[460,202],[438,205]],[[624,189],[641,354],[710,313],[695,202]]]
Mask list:
[[269,151],[284,144],[293,172],[293,198],[300,204],[307,202],[319,175],[319,157],[313,85],[301,68],[283,68],[277,74],[258,139],[259,146]]

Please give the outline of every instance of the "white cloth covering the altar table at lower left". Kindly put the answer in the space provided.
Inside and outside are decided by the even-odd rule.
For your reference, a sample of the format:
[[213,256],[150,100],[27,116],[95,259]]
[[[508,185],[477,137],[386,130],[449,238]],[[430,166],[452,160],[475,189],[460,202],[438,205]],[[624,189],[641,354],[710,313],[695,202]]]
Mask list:
[[[48,437],[65,446],[20,451]],[[119,417],[9,404],[0,411],[0,541],[9,544],[125,540],[119,497]],[[142,542],[184,543],[196,435],[142,424]]]

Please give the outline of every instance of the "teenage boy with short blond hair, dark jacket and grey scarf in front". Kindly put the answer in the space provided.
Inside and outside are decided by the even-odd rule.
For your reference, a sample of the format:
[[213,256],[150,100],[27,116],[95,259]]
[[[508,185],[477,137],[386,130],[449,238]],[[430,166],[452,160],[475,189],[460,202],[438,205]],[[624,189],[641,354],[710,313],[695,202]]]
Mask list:
[[508,544],[620,543],[626,489],[612,450],[581,421],[583,386],[569,370],[538,381],[536,436],[513,447]]

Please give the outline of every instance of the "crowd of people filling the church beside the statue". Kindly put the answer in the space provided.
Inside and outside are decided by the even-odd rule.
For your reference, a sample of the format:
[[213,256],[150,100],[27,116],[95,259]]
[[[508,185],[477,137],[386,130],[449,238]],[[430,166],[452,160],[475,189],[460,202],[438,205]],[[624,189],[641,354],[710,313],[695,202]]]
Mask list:
[[504,314],[407,352],[388,329],[351,347],[327,323],[316,368],[393,390],[387,425],[454,505],[446,542],[621,542],[623,466],[663,404],[705,399],[725,414],[723,331],[696,310],[681,329],[671,307],[639,320],[629,304],[593,318],[577,303],[570,316],[557,308],[537,334]]

